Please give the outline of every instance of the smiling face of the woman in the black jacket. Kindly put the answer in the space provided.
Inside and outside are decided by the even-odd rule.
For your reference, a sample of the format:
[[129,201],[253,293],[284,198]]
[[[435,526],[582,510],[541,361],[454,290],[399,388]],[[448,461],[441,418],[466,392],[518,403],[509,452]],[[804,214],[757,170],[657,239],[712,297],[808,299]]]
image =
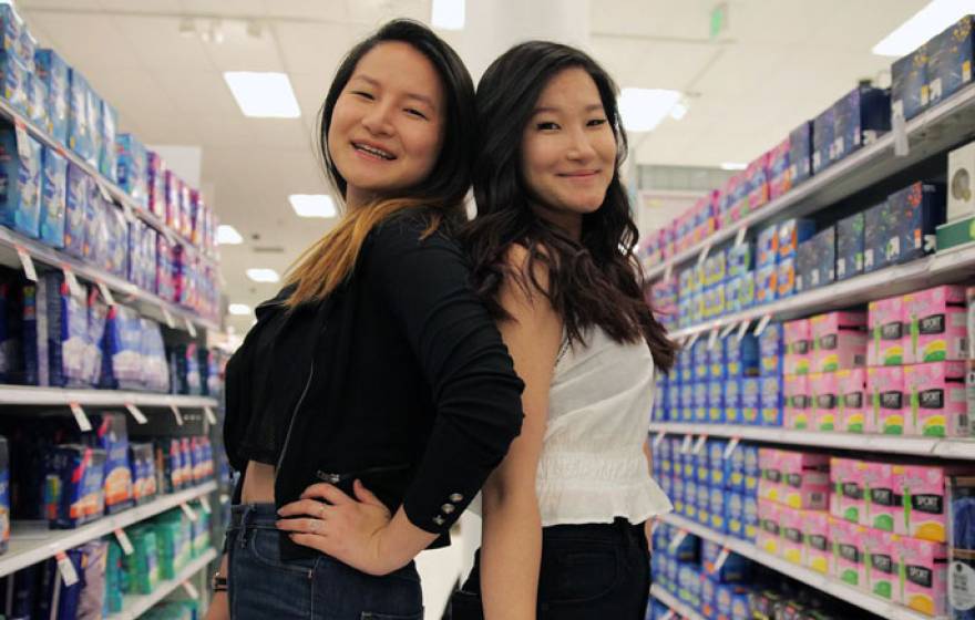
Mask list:
[[398,41],[370,50],[336,101],[328,151],[355,207],[421,183],[443,143],[445,102],[433,64]]

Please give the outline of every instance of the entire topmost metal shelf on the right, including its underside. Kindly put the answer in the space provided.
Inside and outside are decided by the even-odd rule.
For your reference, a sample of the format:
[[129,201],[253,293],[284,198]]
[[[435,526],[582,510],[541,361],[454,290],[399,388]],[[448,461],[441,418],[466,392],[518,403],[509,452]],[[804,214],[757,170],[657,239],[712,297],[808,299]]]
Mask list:
[[975,136],[975,84],[909,121],[906,133],[910,144],[907,155],[895,155],[894,135],[887,132],[873,144],[833,164],[740,221],[726,226],[660,265],[646,268],[646,277],[657,279],[667,271],[668,266],[673,268],[698,258],[705,248],[732,239],[742,227],[752,228],[776,219],[809,215],[971,140]]

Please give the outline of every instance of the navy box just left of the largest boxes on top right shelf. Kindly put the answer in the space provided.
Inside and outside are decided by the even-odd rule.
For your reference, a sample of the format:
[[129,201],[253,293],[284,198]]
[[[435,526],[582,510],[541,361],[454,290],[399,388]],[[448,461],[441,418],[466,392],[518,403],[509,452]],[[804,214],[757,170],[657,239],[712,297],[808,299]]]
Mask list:
[[891,95],[885,90],[858,86],[833,107],[833,162],[839,162],[865,144],[876,142],[881,134],[891,131]]

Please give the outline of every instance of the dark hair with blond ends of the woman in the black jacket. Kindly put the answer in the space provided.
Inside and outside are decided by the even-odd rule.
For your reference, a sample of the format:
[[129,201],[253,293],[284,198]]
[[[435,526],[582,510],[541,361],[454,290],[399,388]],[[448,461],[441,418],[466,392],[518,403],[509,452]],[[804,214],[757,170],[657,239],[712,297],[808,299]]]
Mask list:
[[443,224],[463,220],[464,196],[471,185],[471,164],[476,136],[474,83],[456,52],[432,30],[412,20],[393,20],[352,48],[339,64],[316,122],[317,154],[332,186],[346,196],[348,184],[328,149],[328,131],[339,95],[359,61],[376,46],[398,41],[422,53],[437,70],[443,84],[445,118],[440,155],[427,178],[397,196],[343,214],[341,221],[314,246],[305,250],[287,283],[296,286],[290,307],[328,296],[352,272],[369,232],[389,217],[407,209],[424,209],[427,234]]

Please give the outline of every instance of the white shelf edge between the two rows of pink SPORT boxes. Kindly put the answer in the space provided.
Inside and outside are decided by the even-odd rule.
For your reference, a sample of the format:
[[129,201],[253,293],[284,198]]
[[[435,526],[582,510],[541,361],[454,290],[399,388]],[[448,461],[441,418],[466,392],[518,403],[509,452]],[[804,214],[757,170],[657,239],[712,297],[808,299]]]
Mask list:
[[650,433],[669,435],[708,435],[709,437],[738,437],[739,440],[822,446],[864,452],[914,454],[962,461],[975,461],[975,440],[934,438],[838,433],[832,431],[796,431],[769,426],[738,424],[706,424],[689,422],[650,422]]

